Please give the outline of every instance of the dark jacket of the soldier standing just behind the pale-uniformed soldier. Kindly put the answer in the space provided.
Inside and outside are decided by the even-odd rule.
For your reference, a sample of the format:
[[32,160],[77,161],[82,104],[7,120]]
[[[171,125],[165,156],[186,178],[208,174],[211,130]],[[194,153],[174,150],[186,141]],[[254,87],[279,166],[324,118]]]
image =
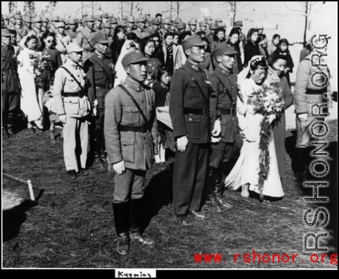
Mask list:
[[112,64],[111,57],[96,52],[84,63],[84,72],[89,80],[88,95],[92,105],[95,99],[104,98],[104,93],[113,87]]

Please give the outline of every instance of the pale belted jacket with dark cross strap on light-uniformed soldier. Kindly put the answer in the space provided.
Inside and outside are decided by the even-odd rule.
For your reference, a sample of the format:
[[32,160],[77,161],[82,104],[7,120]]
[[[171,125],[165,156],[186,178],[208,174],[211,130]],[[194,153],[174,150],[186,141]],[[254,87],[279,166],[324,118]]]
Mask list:
[[[85,73],[80,66],[73,64],[68,60],[64,65],[77,80],[85,85]],[[75,80],[64,69],[59,68],[55,72],[53,97],[55,102],[55,112],[58,115],[66,114],[68,117],[81,118],[87,116],[91,109],[91,103],[85,92],[82,97],[64,97],[64,93],[73,93],[80,91],[80,87]]]

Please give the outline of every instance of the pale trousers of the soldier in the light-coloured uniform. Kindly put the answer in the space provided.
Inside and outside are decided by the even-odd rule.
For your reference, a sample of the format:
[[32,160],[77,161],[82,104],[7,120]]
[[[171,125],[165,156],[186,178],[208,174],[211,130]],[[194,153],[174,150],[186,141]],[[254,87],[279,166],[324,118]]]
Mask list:
[[88,117],[68,117],[64,125],[64,161],[66,170],[79,171],[86,168],[87,149],[89,144]]

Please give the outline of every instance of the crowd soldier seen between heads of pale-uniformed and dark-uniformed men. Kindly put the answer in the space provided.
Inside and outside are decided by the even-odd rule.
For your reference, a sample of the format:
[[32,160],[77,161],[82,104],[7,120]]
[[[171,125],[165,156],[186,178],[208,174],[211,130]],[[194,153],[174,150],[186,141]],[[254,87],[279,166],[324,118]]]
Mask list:
[[91,45],[91,39],[98,32],[93,29],[94,27],[94,17],[89,15],[86,17],[86,27],[82,28],[77,33],[76,42],[81,48],[84,48],[84,53],[82,55],[82,61],[85,62],[95,51],[94,46]]

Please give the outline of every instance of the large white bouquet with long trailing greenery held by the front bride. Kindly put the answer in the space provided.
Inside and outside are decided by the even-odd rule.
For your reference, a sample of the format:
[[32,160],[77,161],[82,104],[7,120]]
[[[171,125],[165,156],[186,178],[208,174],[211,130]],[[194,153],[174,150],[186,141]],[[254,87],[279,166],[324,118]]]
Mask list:
[[259,142],[259,190],[260,198],[264,199],[264,181],[268,178],[270,171],[270,152],[268,145],[273,138],[273,127],[277,125],[284,111],[284,98],[281,87],[267,87],[265,84],[251,96],[251,105],[254,105],[254,112],[264,116],[260,123]]

